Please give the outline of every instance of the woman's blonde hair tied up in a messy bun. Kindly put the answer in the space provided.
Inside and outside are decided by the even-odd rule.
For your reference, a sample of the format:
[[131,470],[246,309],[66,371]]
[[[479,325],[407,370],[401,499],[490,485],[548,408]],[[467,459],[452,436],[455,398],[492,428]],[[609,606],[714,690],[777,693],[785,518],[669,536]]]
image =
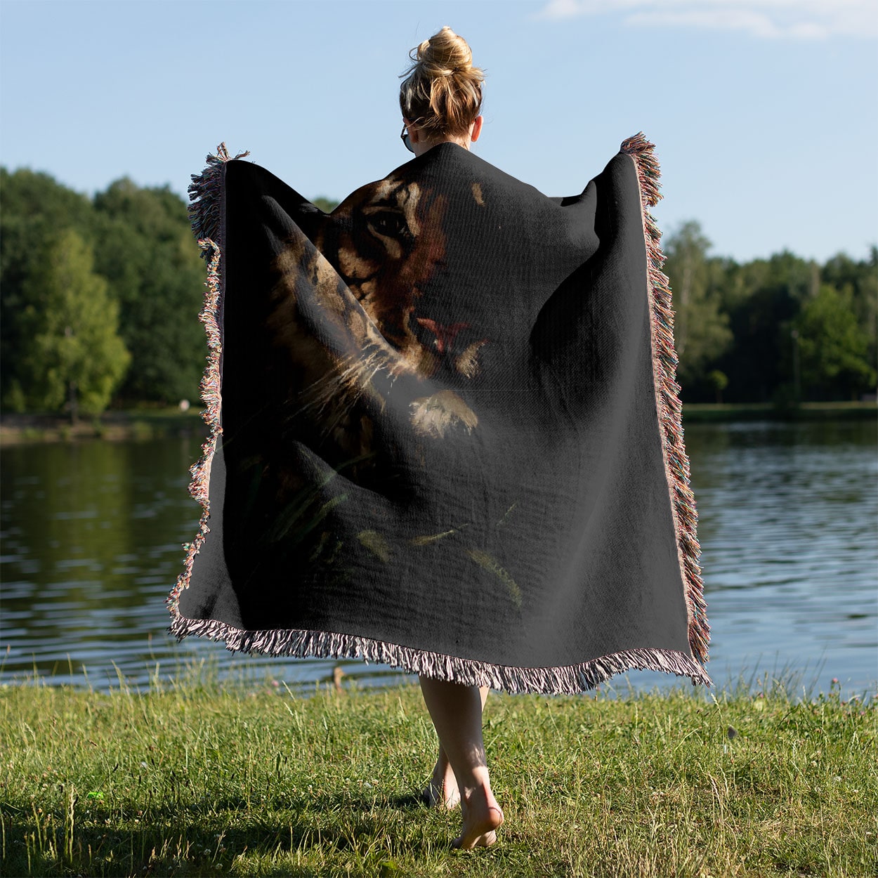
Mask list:
[[481,110],[485,74],[472,66],[466,40],[445,26],[408,56],[412,65],[399,86],[402,115],[428,137],[467,133]]

